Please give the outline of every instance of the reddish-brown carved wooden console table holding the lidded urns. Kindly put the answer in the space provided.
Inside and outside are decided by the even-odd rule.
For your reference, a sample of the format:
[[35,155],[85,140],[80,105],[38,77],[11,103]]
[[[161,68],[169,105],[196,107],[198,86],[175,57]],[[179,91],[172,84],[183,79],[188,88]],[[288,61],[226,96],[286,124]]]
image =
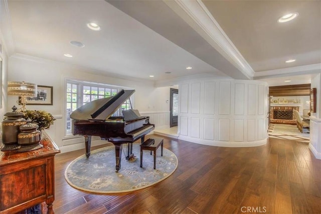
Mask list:
[[43,148],[28,151],[0,151],[0,213],[16,213],[46,201],[54,213],[55,154],[58,146],[42,131]]

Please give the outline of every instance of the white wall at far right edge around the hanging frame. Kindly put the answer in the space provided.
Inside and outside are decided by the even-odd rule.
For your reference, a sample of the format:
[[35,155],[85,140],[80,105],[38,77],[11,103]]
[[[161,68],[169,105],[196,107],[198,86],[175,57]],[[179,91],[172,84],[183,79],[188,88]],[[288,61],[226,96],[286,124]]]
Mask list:
[[321,74],[312,79],[311,88],[316,88],[316,113],[310,116],[309,148],[317,159],[321,159]]

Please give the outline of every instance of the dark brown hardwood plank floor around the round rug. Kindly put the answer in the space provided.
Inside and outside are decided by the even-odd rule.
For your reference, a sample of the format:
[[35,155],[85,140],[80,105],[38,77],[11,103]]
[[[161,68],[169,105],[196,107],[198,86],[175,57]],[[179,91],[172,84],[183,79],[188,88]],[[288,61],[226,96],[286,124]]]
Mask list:
[[306,143],[227,148],[165,138],[164,147],[178,157],[174,174],[122,194],[71,187],[65,168],[84,150],[56,155],[55,213],[321,213],[321,160]]

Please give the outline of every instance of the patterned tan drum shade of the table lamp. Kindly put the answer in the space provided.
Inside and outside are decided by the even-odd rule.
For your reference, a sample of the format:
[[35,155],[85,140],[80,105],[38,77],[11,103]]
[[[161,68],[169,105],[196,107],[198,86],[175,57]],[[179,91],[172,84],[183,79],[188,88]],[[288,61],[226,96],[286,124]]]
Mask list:
[[26,82],[8,82],[8,95],[21,97],[37,97],[37,85]]

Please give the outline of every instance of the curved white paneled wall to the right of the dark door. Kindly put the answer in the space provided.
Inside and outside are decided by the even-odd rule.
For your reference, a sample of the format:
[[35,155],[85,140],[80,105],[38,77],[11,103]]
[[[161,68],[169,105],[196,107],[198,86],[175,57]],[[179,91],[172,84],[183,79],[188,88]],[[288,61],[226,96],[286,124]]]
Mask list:
[[179,139],[228,147],[266,143],[265,82],[189,80],[180,84],[179,96]]

